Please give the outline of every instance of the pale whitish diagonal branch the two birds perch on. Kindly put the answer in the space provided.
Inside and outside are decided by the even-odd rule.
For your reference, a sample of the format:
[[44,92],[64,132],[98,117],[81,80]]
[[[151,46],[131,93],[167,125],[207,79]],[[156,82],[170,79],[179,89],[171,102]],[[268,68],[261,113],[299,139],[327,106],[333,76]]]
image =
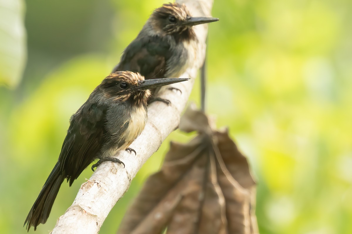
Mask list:
[[[210,16],[213,0],[177,0],[186,4],[193,16]],[[148,107],[148,122],[142,134],[131,144],[137,153],[130,154],[121,151],[116,158],[125,163],[125,168],[112,162],[103,162],[93,173],[92,177],[82,184],[72,206],[57,220],[51,233],[84,233],[96,234],[106,216],[115,203],[130,187],[131,180],[149,157],[158,150],[165,138],[174,131],[180,115],[186,106],[189,94],[194,84],[194,78],[205,57],[205,40],[208,25],[194,27],[198,42],[195,62],[181,77],[192,78],[189,81],[173,84],[178,91],[166,88],[158,96],[171,101],[166,106],[162,102],[153,102]]]

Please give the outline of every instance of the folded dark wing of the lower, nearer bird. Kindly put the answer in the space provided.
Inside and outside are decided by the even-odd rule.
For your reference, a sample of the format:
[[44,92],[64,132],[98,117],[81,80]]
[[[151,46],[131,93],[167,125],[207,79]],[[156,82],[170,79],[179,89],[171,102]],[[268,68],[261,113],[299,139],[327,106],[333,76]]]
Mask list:
[[84,168],[96,159],[103,145],[106,137],[104,117],[107,108],[88,100],[71,117],[59,156],[61,172],[70,181],[70,186]]

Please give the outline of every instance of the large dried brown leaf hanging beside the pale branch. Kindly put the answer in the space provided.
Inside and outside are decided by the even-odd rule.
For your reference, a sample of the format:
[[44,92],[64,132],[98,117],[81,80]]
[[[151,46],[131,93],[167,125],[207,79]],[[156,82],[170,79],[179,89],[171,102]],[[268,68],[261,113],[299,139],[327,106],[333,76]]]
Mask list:
[[185,115],[183,129],[199,135],[186,145],[171,143],[118,233],[258,233],[255,182],[245,156],[227,131],[210,131],[206,115],[194,109]]

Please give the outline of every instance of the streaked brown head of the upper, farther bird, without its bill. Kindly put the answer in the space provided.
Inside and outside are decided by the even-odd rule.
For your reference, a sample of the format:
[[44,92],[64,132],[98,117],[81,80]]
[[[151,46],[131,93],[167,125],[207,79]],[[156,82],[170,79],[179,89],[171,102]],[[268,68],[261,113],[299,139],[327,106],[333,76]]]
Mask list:
[[191,17],[184,4],[168,3],[155,9],[150,16],[152,27],[156,32],[174,36],[182,36],[183,39],[195,39],[191,27],[182,25],[187,18]]

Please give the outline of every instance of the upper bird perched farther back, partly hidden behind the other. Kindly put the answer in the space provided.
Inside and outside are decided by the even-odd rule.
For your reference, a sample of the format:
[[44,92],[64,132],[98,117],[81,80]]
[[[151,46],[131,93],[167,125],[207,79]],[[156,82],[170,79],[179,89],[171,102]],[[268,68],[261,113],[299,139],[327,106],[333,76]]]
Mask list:
[[[168,3],[153,11],[137,37],[124,49],[116,71],[139,72],[145,79],[180,77],[196,59],[193,26],[218,18],[192,17],[184,4]],[[152,90],[152,94],[157,90]],[[153,100],[168,100],[154,98]]]

